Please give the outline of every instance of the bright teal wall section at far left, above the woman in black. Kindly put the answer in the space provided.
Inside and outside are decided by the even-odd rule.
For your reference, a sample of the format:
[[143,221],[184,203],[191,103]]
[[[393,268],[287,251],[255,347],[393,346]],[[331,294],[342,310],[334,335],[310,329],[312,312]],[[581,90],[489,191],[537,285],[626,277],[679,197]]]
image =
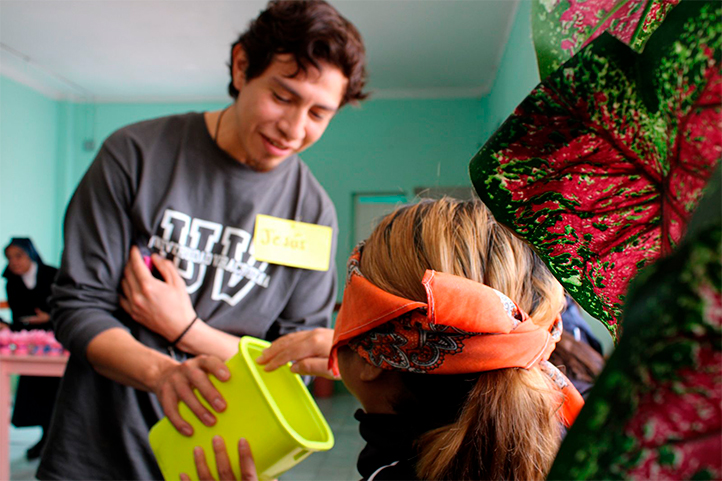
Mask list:
[[[0,77],[0,244],[31,237],[57,264],[60,224],[56,182],[61,108],[35,90]],[[0,268],[5,268],[2,257]],[[0,298],[5,282],[0,280]]]

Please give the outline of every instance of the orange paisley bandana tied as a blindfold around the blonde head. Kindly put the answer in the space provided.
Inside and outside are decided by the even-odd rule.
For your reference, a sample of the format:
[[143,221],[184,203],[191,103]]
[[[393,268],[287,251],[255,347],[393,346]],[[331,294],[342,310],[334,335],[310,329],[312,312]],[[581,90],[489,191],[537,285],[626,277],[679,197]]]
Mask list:
[[346,344],[370,364],[389,370],[461,374],[539,364],[562,389],[561,414],[571,425],[584,401],[545,362],[561,337],[561,316],[537,325],[496,289],[432,270],[422,279],[427,302],[411,301],[369,282],[358,269],[359,260],[357,248],[349,258],[336,318],[329,358],[334,374],[339,374],[338,348]]

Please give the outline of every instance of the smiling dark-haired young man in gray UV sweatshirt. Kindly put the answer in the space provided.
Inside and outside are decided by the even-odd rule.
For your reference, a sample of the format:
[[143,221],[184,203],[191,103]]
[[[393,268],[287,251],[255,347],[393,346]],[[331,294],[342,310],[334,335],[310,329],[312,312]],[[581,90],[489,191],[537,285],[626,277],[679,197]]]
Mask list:
[[[297,154],[365,97],[364,65],[360,35],[333,7],[271,2],[232,47],[228,108],[105,141],[65,218],[51,303],[71,357],[40,479],[161,479],[148,430],[168,414],[188,434],[179,401],[215,422],[191,386],[225,408],[207,375],[227,379],[221,359],[239,336],[328,326],[336,213]],[[330,226],[329,270],[257,261],[257,214]],[[160,255],[165,283],[139,277],[139,247]]]

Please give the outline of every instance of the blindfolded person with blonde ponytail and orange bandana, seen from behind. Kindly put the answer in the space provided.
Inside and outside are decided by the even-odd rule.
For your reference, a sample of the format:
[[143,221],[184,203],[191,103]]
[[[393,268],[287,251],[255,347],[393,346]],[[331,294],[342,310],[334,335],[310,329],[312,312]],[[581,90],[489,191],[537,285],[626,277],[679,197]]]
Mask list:
[[[363,478],[544,479],[583,405],[547,361],[564,304],[479,201],[422,201],[383,219],[349,260],[329,360],[363,406]],[[245,442],[239,455],[250,466]],[[202,455],[196,465],[209,479]]]

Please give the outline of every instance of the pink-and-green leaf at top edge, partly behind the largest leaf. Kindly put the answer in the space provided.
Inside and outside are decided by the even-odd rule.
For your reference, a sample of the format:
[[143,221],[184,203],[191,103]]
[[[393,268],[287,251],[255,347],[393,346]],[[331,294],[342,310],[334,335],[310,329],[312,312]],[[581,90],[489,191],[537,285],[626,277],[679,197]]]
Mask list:
[[641,52],[679,0],[534,0],[532,33],[542,79],[603,32]]

